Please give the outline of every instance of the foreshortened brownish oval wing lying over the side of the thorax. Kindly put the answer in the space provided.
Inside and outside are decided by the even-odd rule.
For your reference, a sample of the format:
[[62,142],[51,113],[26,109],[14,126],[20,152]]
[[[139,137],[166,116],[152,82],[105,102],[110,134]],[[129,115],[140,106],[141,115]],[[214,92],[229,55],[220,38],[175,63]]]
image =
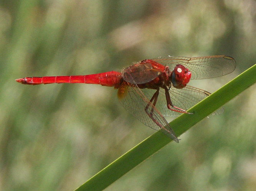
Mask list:
[[137,63],[122,72],[124,81],[132,84],[145,84],[157,78],[161,71],[152,68],[150,63]]

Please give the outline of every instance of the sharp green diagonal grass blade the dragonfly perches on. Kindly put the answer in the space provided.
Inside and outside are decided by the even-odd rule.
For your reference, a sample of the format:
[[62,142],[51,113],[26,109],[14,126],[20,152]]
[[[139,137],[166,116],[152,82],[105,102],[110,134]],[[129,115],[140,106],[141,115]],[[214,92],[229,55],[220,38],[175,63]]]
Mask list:
[[[249,86],[253,85],[256,82],[255,74],[256,65],[253,65],[228,84],[218,89],[218,91],[190,108],[188,112],[195,112],[194,115],[182,114],[180,117],[173,120],[170,123],[170,126],[173,128],[177,136],[180,136],[200,120],[210,115]],[[126,152],[124,155],[102,169],[96,175],[92,176],[92,178],[77,188],[76,191],[96,191],[106,188],[125,173],[129,172],[129,170],[147,159],[150,155],[159,151],[159,149],[164,147],[170,141],[172,140],[164,134],[160,132],[154,133],[152,136],[140,142],[140,144],[130,149],[130,151]]]

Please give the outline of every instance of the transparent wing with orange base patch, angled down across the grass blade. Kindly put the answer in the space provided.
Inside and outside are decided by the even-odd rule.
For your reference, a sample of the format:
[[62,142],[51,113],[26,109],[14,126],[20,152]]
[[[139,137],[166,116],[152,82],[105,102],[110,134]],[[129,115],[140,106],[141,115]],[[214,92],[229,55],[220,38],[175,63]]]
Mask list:
[[[137,85],[129,85],[123,83],[123,85],[119,87],[118,97],[121,105],[132,115],[134,115],[134,117],[136,117],[139,121],[152,129],[161,131],[175,142],[178,142],[178,138],[168,122],[149,100],[149,97],[152,97],[155,91],[156,90],[148,91],[147,95],[145,95]],[[159,125],[157,125],[157,123],[155,123],[145,111],[147,105],[149,111],[154,108],[152,117],[157,121],[157,123],[159,123]]]

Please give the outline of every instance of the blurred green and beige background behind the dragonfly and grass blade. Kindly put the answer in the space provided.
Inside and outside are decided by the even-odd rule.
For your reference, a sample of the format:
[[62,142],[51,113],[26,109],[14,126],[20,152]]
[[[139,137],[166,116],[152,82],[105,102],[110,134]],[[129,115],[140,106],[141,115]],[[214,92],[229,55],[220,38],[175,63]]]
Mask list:
[[[1,0],[0,190],[73,190],[155,133],[112,87],[14,79],[165,55],[234,57],[232,74],[190,83],[213,92],[254,65],[255,10],[253,0]],[[253,190],[255,96],[252,86],[106,190]]]

